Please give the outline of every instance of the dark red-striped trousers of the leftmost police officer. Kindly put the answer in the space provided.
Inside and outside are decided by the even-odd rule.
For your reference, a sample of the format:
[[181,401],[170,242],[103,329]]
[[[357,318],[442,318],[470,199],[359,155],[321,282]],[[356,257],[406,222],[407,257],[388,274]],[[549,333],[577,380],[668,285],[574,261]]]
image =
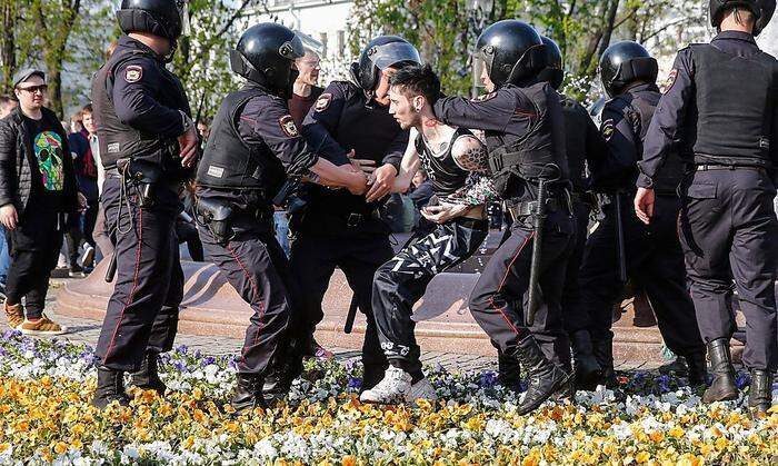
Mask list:
[[117,275],[94,354],[116,370],[137,370],[147,350],[172,349],[183,298],[174,230],[178,195],[160,186],[154,205],[141,208],[134,189],[128,189],[129,207],[119,178],[107,178],[102,191],[108,231],[116,238]]

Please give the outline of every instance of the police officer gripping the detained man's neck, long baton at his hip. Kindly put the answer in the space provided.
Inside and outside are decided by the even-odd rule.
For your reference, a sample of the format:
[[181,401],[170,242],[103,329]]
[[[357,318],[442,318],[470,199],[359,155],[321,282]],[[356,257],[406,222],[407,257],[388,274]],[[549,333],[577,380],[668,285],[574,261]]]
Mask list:
[[[435,113],[447,125],[485,131],[493,182],[513,224],[470,296],[470,313],[499,349],[518,358],[529,375],[520,414],[565,388],[569,375],[556,363],[562,336],[560,300],[572,248],[573,219],[567,202],[568,169],[559,97],[538,73],[546,66],[540,36],[527,23],[499,21],[478,39],[489,93],[479,99],[440,99]],[[543,186],[543,190],[540,187]],[[547,192],[543,192],[547,191]],[[542,206],[536,201],[546,195]],[[531,256],[537,235],[533,212],[545,210],[535,325],[527,324]],[[541,218],[541,217],[540,217]],[[522,303],[523,301],[523,303]],[[547,351],[543,354],[542,345]]]

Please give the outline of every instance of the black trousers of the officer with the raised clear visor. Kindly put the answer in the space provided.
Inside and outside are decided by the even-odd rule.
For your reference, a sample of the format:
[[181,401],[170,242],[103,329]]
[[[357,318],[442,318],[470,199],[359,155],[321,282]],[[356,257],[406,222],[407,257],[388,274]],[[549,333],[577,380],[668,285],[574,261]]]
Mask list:
[[[359,228],[359,226],[355,227]],[[300,330],[312,335],[325,314],[321,301],[335,268],[340,268],[355,294],[359,310],[367,317],[362,344],[366,370],[381,373],[388,363],[378,339],[372,311],[372,279],[376,270],[395,255],[389,237],[375,235],[329,236],[300,231],[291,246],[291,268],[301,295]],[[370,387],[367,387],[370,388]]]

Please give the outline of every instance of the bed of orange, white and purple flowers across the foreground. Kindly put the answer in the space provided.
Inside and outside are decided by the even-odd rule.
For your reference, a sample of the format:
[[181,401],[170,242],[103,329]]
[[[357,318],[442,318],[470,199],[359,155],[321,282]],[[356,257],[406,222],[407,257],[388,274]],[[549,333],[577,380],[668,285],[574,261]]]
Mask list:
[[[445,401],[362,405],[359,368],[309,363],[290,401],[233,418],[220,409],[233,363],[178,348],[169,396],[89,406],[92,350],[9,333],[0,343],[0,464],[776,464],[778,409],[754,422],[744,400],[705,406],[669,376],[635,373],[619,390],[516,414],[492,373],[428,368]],[[680,380],[682,381],[682,380]],[[746,380],[741,380],[745,383]],[[774,399],[778,390],[774,387]]]

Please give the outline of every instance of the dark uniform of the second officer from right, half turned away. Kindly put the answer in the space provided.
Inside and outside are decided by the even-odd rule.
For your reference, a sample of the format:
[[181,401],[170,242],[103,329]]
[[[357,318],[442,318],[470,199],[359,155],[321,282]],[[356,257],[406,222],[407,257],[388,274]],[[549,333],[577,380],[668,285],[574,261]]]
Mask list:
[[[656,85],[638,85],[606,103],[601,132],[610,149],[609,163],[605,167],[610,182],[601,188],[611,196],[622,196],[627,274],[646,290],[665,343],[677,355],[700,355],[705,348],[685,285],[684,256],[676,229],[680,207],[676,187],[682,173],[678,156],[668,160],[664,177],[657,180],[657,204],[650,226],[638,220],[630,201],[642,140],[659,97]],[[592,176],[606,179],[602,173]],[[602,211],[605,218],[586,245],[579,276],[581,297],[571,305],[577,308],[576,314],[590,316],[592,340],[609,345],[612,307],[625,284],[618,279],[616,204],[604,206]]]

